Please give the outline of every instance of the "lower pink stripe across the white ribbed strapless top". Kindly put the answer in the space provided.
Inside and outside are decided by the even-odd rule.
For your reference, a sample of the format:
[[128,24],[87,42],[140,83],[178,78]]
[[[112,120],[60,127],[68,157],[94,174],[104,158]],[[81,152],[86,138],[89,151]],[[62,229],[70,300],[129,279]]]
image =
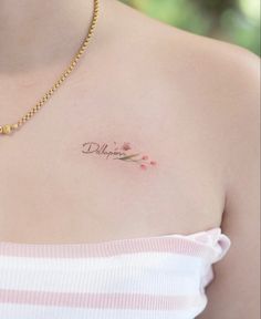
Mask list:
[[0,290],[1,302],[98,309],[177,310],[199,306],[200,296],[152,296],[145,294],[64,294]]

